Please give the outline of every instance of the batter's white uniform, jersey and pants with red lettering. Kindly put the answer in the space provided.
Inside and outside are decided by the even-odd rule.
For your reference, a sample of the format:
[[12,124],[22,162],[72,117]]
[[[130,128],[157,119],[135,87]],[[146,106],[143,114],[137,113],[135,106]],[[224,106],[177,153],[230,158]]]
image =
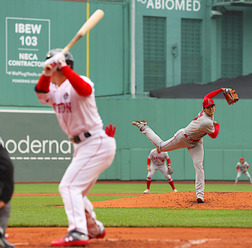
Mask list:
[[95,103],[94,84],[89,78],[80,77],[92,87],[92,93],[88,96],[78,95],[69,80],[65,80],[60,87],[51,83],[48,93],[36,94],[42,104],[54,108],[59,124],[68,136],[80,137],[85,132],[91,134],[74,144],[73,159],[59,185],[69,223],[68,231],[88,234],[85,211],[94,219],[95,213],[86,196],[99,175],[113,162],[116,142],[103,130]]

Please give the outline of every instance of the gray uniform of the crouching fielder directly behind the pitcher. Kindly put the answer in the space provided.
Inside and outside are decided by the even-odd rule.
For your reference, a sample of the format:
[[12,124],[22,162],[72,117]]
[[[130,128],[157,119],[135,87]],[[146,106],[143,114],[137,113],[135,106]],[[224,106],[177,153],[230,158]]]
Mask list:
[[168,175],[166,161],[169,159],[168,152],[158,153],[157,149],[151,150],[148,159],[151,160],[151,171],[148,172],[147,178],[152,178],[157,170],[160,170],[165,178],[169,181],[171,176]]

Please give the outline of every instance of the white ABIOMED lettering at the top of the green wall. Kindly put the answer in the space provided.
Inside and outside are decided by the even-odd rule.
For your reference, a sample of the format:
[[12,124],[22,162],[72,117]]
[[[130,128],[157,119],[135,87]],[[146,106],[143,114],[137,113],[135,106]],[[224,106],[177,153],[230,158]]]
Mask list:
[[176,10],[197,12],[200,10],[200,0],[137,0],[146,5],[146,9]]

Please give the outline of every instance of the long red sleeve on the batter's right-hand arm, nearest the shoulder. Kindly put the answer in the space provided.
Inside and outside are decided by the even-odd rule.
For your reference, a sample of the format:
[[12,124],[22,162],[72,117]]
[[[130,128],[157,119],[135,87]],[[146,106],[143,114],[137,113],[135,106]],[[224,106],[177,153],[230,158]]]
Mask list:
[[89,96],[92,93],[91,85],[85,82],[80,75],[69,66],[64,66],[60,70],[80,96]]

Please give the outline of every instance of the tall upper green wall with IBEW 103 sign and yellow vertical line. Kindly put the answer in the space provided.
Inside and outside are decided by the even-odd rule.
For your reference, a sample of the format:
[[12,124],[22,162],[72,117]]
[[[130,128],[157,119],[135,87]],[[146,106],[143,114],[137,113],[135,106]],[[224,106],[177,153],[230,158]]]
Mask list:
[[[105,15],[89,32],[89,48],[87,36],[71,48],[74,68],[86,75],[89,65],[89,77],[99,85],[96,95],[122,95],[130,75],[128,5],[91,2],[89,15],[96,9]],[[84,1],[1,0],[0,105],[40,106],[32,92],[46,53],[64,48],[86,20]]]

